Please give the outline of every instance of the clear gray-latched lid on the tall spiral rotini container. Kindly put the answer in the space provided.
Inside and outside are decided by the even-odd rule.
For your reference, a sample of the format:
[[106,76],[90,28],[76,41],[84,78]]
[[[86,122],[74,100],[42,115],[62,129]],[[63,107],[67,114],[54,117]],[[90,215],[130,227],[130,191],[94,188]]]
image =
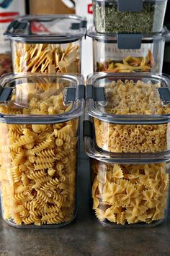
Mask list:
[[[48,107],[52,108],[44,111]],[[35,109],[35,110],[34,110]],[[73,74],[5,74],[0,79],[0,122],[57,124],[84,111],[84,78]]]

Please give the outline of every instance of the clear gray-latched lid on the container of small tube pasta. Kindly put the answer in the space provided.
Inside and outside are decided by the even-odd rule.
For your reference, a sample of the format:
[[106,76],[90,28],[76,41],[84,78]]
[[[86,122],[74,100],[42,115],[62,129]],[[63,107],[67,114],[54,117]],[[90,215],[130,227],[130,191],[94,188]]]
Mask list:
[[[127,98],[123,105],[123,97],[120,98],[120,95],[116,93],[120,80],[122,81],[121,86],[124,87],[126,81],[131,83],[130,87],[127,85],[127,95],[133,95],[133,101],[132,98]],[[145,73],[112,72],[91,74],[87,79],[86,85],[87,114],[112,124],[167,124],[170,122],[169,85],[168,75],[157,76]],[[147,102],[147,106],[142,108],[142,111],[140,108],[142,105],[140,105],[138,99],[139,91],[143,99],[141,104],[143,105],[144,102]],[[150,97],[149,102],[147,94]],[[131,111],[133,104],[138,106],[136,112]],[[119,111],[120,108],[121,111]],[[126,108],[129,109],[128,114]],[[162,114],[159,114],[158,108],[162,109]]]

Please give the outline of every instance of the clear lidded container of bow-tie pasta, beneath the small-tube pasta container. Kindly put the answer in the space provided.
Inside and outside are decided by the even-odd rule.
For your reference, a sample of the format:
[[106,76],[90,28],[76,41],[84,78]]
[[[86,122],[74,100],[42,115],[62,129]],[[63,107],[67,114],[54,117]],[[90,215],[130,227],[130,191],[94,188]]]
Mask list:
[[[88,121],[86,121],[88,122]],[[169,162],[140,155],[116,158],[101,153],[85,123],[85,148],[91,163],[91,199],[97,220],[112,228],[146,228],[168,213]],[[161,162],[160,162],[161,161]]]

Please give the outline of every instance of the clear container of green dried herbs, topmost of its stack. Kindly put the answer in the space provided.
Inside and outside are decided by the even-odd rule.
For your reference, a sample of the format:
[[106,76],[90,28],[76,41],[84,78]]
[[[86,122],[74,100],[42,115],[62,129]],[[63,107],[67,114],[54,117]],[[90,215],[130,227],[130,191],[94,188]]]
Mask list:
[[167,0],[93,0],[99,33],[159,33]]

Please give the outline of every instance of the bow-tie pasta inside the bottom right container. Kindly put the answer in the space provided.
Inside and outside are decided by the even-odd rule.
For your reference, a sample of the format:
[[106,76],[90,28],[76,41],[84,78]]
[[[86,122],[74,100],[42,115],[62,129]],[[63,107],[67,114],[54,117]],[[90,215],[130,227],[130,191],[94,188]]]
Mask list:
[[92,171],[93,209],[99,221],[125,225],[165,217],[166,163],[117,165],[93,160]]

